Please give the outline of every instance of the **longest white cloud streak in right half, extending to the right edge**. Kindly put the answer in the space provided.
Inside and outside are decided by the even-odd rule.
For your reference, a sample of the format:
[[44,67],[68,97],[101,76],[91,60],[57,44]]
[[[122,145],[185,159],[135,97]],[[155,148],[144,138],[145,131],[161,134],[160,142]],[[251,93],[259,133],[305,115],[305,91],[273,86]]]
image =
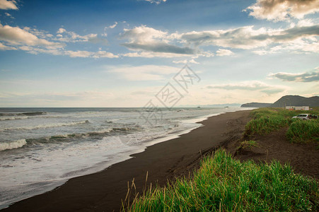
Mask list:
[[[319,25],[293,26],[287,29],[255,30],[246,26],[230,30],[211,30],[182,33],[180,40],[192,45],[214,45],[236,49],[254,49],[258,54],[272,53],[274,50],[318,52]],[[269,51],[272,48],[272,51]]]

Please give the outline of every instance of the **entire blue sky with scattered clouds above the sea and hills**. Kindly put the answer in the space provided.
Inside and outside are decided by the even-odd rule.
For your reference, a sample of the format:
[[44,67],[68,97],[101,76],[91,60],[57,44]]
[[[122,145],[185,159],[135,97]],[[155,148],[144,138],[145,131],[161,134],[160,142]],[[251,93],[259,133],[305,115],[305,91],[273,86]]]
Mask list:
[[317,0],[0,0],[0,107],[319,95]]

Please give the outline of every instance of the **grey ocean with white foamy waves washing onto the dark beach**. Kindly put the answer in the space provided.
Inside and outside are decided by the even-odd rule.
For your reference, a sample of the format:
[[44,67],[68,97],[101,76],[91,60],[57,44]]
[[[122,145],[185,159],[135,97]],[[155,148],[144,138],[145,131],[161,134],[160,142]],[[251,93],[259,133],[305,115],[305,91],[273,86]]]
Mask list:
[[0,208],[173,139],[216,108],[0,108]]

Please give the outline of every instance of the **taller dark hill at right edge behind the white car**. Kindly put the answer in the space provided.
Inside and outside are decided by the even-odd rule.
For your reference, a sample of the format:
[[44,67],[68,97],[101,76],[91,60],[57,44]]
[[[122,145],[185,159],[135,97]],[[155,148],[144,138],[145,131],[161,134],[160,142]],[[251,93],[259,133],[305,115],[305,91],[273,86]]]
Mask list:
[[319,97],[313,96],[311,98],[305,98],[300,95],[285,95],[270,107],[285,107],[285,106],[309,106],[319,107]]

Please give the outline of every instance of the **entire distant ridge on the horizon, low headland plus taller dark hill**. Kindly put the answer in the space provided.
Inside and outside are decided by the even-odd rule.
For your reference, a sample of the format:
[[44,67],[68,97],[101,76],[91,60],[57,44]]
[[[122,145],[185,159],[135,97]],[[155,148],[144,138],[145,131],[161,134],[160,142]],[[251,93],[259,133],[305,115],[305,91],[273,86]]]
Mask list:
[[305,98],[300,95],[284,95],[274,103],[250,102],[241,105],[240,107],[286,107],[286,106],[309,106],[319,107],[319,97],[313,96]]

